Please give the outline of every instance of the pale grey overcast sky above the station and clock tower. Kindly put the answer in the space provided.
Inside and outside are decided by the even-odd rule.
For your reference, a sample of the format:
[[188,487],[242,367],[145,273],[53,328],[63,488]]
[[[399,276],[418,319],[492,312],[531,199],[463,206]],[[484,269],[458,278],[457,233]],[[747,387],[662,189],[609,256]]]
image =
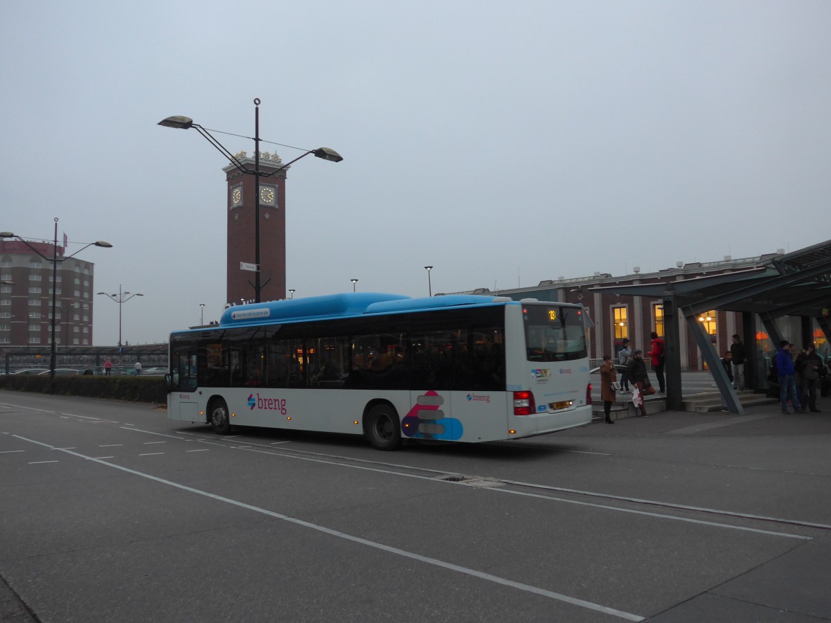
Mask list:
[[295,297],[796,250],[831,238],[829,32],[827,0],[12,2],[0,230],[112,243],[79,257],[145,295],[125,341],[219,318],[227,162],[156,123],[253,136],[258,97],[263,139],[344,158],[288,175]]

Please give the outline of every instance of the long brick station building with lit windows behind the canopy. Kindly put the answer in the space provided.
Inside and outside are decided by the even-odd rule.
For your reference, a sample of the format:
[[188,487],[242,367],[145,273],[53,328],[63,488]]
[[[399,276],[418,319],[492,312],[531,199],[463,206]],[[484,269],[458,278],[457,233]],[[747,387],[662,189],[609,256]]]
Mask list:
[[[691,292],[693,299],[696,297],[696,284],[701,283],[701,300],[706,300],[704,292],[713,287],[714,281],[723,283],[725,291],[729,292],[731,288],[737,290],[751,277],[758,277],[765,272],[779,274],[779,264],[787,264],[789,258],[807,257],[809,253],[806,252],[819,256],[819,262],[827,263],[831,253],[829,249],[831,242],[794,253],[784,253],[783,249],[779,249],[775,253],[754,258],[734,259],[728,256],[714,262],[677,262],[675,267],[657,272],[645,273],[639,267],[633,267],[631,274],[618,277],[607,272],[595,272],[590,277],[558,277],[539,282],[533,287],[498,292],[478,288],[465,293],[499,294],[516,301],[535,298],[539,301],[582,304],[593,323],[588,330],[589,353],[593,360],[602,360],[602,356],[607,354],[615,356],[621,350],[624,339],[631,341],[633,350],[641,349],[644,358],[648,359],[651,332],[655,331],[661,338],[665,337],[666,292],[678,289],[679,282],[686,282],[686,290]],[[826,274],[831,274],[831,269],[827,269]],[[823,276],[821,273],[820,278]],[[791,292],[795,298],[813,296],[809,294],[809,286]],[[757,293],[755,300],[752,297],[741,299],[747,302],[745,306],[714,305],[712,309],[695,314],[703,334],[718,356],[724,356],[725,351],[730,350],[733,335],[740,336],[749,353],[755,355],[755,376],[760,380],[760,385],[764,385],[766,366],[770,357],[775,355],[779,338],[793,342],[798,348],[812,342],[824,361],[828,361],[831,356],[827,336],[831,296],[826,294],[824,302],[812,301],[815,307],[813,310],[807,306],[805,310],[800,310],[799,300],[794,300],[791,301],[797,303],[794,315],[770,318],[760,315],[760,309],[775,307],[773,299],[787,296],[787,293],[781,288],[775,291],[769,289],[766,293]],[[770,300],[762,300],[763,297]],[[702,353],[701,341],[696,339],[689,325],[681,325],[680,329],[677,351],[681,370],[706,370],[709,367],[706,355],[710,354]]]

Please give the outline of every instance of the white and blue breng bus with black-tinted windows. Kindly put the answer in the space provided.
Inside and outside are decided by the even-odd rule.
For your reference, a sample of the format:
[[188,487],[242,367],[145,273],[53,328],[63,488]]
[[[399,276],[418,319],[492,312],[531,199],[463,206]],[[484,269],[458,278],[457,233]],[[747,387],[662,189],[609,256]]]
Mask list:
[[592,420],[583,307],[349,292],[229,307],[170,335],[170,419],[403,439],[520,439]]

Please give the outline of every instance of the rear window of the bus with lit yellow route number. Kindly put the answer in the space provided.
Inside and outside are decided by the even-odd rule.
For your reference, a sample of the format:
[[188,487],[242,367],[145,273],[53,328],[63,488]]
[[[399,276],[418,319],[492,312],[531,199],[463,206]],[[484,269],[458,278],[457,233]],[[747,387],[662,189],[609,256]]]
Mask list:
[[529,361],[572,361],[588,356],[581,307],[526,305],[523,319]]

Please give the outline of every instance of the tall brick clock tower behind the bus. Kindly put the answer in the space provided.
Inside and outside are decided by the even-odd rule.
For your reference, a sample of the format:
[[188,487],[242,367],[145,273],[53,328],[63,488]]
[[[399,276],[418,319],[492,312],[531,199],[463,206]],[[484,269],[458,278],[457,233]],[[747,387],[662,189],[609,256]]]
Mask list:
[[[246,168],[254,169],[253,156],[235,155]],[[283,167],[275,154],[260,153],[259,168],[265,174]],[[286,297],[286,173],[288,167],[269,177],[260,176],[259,197],[254,196],[256,180],[234,164],[222,169],[228,182],[228,299],[238,305],[254,300],[255,201],[259,201],[260,297],[277,301]]]

